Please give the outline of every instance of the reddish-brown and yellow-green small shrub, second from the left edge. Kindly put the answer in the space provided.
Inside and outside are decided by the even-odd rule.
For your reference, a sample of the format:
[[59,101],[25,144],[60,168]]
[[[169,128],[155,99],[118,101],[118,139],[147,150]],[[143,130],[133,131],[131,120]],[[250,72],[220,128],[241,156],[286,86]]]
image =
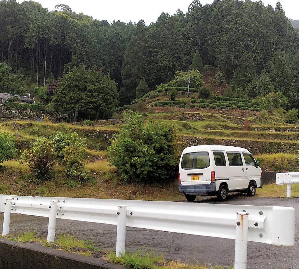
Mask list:
[[48,180],[50,171],[56,164],[53,142],[51,139],[39,137],[35,142],[31,142],[29,149],[23,151],[20,160],[29,166],[37,183]]

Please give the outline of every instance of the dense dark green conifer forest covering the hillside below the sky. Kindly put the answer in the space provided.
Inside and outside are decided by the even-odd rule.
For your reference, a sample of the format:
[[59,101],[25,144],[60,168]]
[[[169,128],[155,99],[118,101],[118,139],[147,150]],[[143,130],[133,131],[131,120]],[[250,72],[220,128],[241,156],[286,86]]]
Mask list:
[[[9,81],[7,92],[20,85],[27,90],[46,86],[83,64],[86,70],[100,69],[90,72],[101,81],[114,80],[120,105],[130,104],[141,81],[149,90],[168,83],[195,57],[200,72],[206,66],[222,72],[232,90],[256,89],[254,83],[263,80],[288,97],[291,107],[299,105],[298,31],[280,2],[273,8],[261,0],[206,5],[193,0],[186,13],[161,13],[150,25],[143,20],[110,24],[64,4],[56,9],[49,12],[34,1],[0,1],[0,70],[6,74],[0,77]],[[259,91],[267,90],[249,96]],[[90,108],[93,115],[101,113],[96,103]]]

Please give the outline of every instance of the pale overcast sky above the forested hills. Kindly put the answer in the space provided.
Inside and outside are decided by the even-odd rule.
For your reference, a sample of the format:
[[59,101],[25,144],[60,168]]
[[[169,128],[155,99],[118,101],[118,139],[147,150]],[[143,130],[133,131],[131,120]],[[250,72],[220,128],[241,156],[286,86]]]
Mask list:
[[[17,0],[22,2],[22,0]],[[155,22],[162,12],[170,15],[180,10],[186,12],[192,0],[35,0],[48,8],[49,11],[55,9],[57,4],[66,4],[76,13],[82,12],[84,15],[92,16],[94,19],[106,19],[108,22],[120,20],[122,22],[138,22],[140,19],[149,25]],[[254,0],[255,1],[255,0]],[[278,0],[263,0],[265,6],[271,4],[276,6]],[[212,0],[200,1],[203,5],[211,3]],[[298,0],[280,0],[286,16],[291,19],[299,19]]]

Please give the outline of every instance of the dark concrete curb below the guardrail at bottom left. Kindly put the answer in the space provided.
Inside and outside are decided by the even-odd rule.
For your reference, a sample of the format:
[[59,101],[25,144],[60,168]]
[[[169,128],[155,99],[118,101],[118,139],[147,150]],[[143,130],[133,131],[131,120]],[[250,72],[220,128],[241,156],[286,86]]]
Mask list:
[[22,243],[0,238],[2,269],[127,269],[102,258],[92,258],[64,250],[43,247],[38,243]]

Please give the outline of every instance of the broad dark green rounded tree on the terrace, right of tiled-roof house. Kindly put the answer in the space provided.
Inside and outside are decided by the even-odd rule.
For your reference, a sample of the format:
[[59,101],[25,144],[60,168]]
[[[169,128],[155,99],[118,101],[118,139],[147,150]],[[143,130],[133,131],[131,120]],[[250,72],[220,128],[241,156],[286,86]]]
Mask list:
[[74,67],[63,75],[54,90],[53,108],[85,118],[109,118],[118,104],[116,83],[100,70],[87,70],[84,65]]

